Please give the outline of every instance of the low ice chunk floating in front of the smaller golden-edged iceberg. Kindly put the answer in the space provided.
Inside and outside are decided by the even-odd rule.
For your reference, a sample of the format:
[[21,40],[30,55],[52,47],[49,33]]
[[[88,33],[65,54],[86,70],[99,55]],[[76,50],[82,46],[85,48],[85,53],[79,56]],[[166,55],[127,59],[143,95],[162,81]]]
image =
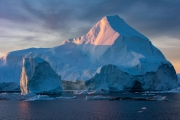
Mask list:
[[36,101],[36,100],[54,100],[54,98],[49,97],[48,95],[36,95],[36,96],[28,98],[24,101]]

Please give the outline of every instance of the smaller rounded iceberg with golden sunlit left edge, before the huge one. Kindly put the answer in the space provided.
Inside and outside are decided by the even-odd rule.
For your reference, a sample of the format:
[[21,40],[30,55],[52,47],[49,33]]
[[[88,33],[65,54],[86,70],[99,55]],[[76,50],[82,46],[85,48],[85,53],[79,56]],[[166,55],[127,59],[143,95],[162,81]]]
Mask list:
[[60,94],[61,77],[41,58],[27,57],[23,59],[20,80],[21,94],[46,93]]

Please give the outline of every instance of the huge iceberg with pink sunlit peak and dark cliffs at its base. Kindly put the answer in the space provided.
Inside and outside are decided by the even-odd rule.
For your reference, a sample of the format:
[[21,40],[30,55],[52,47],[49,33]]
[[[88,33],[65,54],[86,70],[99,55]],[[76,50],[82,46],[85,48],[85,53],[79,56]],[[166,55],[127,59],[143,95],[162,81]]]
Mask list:
[[0,82],[19,84],[22,59],[29,54],[47,61],[63,81],[86,81],[64,82],[65,88],[143,91],[179,86],[173,65],[161,51],[118,15],[103,17],[87,34],[59,46],[8,53],[0,58]]

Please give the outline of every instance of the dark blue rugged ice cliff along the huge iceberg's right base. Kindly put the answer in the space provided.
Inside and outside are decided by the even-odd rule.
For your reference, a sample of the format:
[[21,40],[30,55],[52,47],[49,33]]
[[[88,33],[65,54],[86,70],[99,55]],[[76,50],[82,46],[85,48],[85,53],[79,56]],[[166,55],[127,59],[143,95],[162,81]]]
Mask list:
[[162,64],[156,72],[145,75],[131,75],[114,65],[105,65],[90,80],[86,81],[89,90],[105,91],[145,91],[170,90],[178,86],[173,66]]

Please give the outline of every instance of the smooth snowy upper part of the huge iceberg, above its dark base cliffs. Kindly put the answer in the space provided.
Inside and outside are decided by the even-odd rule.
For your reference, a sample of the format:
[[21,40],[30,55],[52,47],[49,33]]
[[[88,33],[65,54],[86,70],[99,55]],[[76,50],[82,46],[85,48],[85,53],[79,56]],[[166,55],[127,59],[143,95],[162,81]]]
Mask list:
[[119,16],[102,18],[90,31],[61,45],[10,52],[0,60],[0,82],[19,82],[22,58],[31,53],[50,63],[62,80],[89,80],[99,67],[113,64],[131,75],[156,72],[169,63],[148,38],[131,28]]

